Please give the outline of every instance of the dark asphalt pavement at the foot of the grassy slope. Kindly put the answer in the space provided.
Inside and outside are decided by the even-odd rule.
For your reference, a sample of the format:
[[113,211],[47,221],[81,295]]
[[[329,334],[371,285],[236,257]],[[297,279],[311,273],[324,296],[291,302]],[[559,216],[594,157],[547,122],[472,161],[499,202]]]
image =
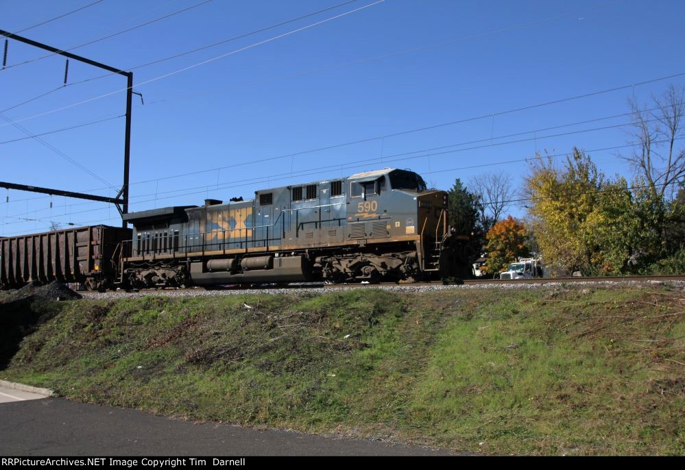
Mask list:
[[3,457],[455,455],[364,439],[193,423],[53,397],[0,403],[0,422]]

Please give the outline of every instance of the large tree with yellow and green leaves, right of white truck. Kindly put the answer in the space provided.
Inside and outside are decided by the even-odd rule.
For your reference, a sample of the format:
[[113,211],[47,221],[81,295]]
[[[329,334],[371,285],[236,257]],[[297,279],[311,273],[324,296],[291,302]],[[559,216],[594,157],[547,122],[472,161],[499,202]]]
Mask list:
[[[677,202],[654,197],[643,177],[632,186],[623,177],[608,179],[579,149],[562,168],[539,158],[526,188],[533,234],[553,274],[651,273],[682,246],[664,236],[664,227],[677,233]],[[674,263],[670,271],[680,269]]]

